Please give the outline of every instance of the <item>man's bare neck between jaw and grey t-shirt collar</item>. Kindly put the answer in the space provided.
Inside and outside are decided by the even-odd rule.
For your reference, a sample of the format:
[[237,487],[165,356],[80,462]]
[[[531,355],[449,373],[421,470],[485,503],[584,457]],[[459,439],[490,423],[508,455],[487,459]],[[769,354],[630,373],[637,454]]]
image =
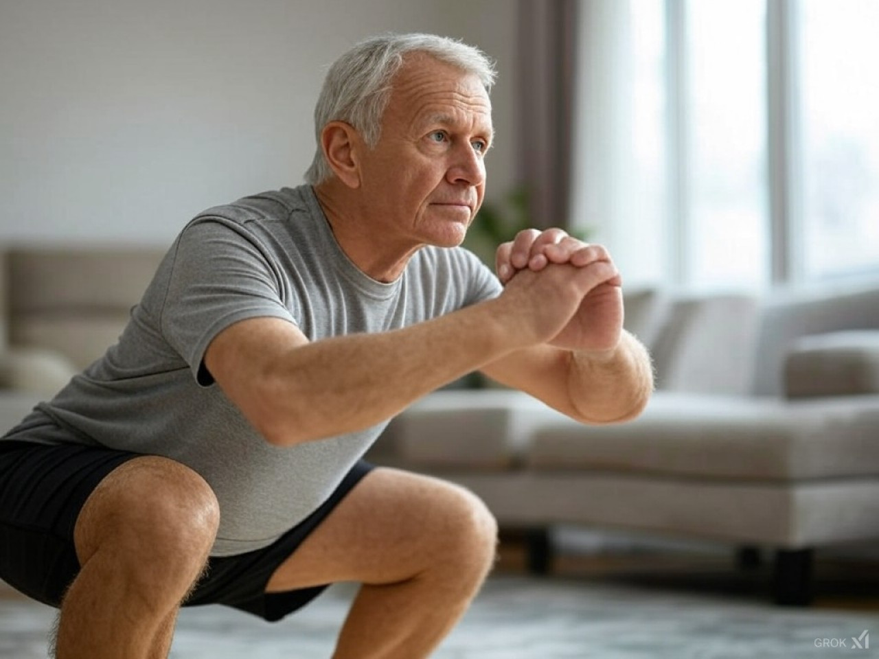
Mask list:
[[317,201],[338,246],[368,277],[384,283],[395,281],[421,245],[393,244],[369,217],[367,210],[348,199],[345,191],[338,189],[339,185],[330,181],[314,186]]

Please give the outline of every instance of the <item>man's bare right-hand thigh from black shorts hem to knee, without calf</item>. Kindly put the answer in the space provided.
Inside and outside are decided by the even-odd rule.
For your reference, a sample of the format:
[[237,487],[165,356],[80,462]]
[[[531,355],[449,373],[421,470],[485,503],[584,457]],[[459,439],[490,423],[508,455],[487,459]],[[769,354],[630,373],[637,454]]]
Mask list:
[[[397,583],[497,529],[468,490],[431,476],[374,468],[274,571],[266,591],[322,583]],[[466,547],[463,547],[466,551]]]

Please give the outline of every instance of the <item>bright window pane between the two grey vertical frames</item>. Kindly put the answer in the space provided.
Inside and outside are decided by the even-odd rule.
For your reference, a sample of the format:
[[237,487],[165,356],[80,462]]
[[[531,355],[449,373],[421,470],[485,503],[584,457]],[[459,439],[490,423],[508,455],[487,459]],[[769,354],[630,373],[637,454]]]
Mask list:
[[686,276],[766,281],[765,0],[686,4],[689,230]]

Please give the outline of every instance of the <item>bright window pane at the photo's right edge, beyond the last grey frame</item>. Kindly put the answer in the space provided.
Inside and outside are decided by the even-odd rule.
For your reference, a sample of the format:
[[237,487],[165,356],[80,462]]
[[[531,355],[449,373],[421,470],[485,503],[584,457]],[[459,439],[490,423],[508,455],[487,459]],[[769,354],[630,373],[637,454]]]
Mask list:
[[801,0],[803,265],[879,270],[879,2]]

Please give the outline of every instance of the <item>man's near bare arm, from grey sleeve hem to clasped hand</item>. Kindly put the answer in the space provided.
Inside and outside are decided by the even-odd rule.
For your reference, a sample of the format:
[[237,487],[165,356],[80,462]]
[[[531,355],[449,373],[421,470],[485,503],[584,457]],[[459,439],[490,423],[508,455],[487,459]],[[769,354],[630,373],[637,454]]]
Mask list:
[[242,321],[214,338],[205,366],[272,444],[330,437],[379,423],[465,373],[546,343],[614,274],[604,262],[558,265],[428,322],[314,343],[286,321]]

